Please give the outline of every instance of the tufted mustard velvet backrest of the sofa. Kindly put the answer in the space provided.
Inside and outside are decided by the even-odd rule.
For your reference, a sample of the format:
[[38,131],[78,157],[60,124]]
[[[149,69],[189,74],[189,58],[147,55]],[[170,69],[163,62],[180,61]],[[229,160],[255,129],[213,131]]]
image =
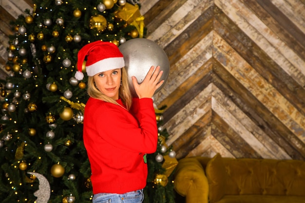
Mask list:
[[223,195],[305,196],[305,162],[232,159],[219,154],[207,164],[211,202]]

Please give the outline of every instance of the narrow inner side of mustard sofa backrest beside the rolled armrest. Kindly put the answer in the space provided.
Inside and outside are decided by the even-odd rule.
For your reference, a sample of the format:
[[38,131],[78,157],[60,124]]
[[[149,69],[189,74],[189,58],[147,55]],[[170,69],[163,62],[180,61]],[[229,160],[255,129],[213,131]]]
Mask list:
[[226,191],[226,170],[221,155],[216,154],[207,164],[210,203],[219,201]]

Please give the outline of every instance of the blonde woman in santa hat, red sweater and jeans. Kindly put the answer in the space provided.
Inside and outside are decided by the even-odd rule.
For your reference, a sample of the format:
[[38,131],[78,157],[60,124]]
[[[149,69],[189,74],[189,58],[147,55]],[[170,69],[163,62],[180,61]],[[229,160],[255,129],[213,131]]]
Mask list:
[[[84,145],[88,153],[93,203],[141,203],[147,179],[146,153],[156,151],[158,130],[152,103],[162,71],[152,66],[141,84],[133,76],[132,98],[124,58],[109,42],[96,41],[78,52],[76,73],[87,56],[88,94]],[[79,77],[80,76],[80,77]]]

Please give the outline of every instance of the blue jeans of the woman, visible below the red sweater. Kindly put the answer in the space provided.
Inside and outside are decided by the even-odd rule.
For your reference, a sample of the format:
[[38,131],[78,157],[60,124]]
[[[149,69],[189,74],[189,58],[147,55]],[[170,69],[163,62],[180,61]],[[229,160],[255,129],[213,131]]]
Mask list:
[[98,193],[94,195],[92,203],[142,203],[143,199],[143,189],[139,189],[125,194]]

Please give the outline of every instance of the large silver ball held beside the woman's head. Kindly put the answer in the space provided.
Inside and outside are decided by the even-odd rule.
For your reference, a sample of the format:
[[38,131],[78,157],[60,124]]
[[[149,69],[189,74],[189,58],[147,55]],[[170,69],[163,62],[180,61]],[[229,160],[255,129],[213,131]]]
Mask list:
[[125,68],[129,76],[129,85],[133,96],[137,95],[134,91],[131,76],[135,76],[140,84],[152,66],[160,66],[160,71],[163,71],[160,80],[164,80],[164,83],[156,92],[163,88],[170,72],[170,61],[159,45],[150,39],[133,38],[118,48],[124,55]]

